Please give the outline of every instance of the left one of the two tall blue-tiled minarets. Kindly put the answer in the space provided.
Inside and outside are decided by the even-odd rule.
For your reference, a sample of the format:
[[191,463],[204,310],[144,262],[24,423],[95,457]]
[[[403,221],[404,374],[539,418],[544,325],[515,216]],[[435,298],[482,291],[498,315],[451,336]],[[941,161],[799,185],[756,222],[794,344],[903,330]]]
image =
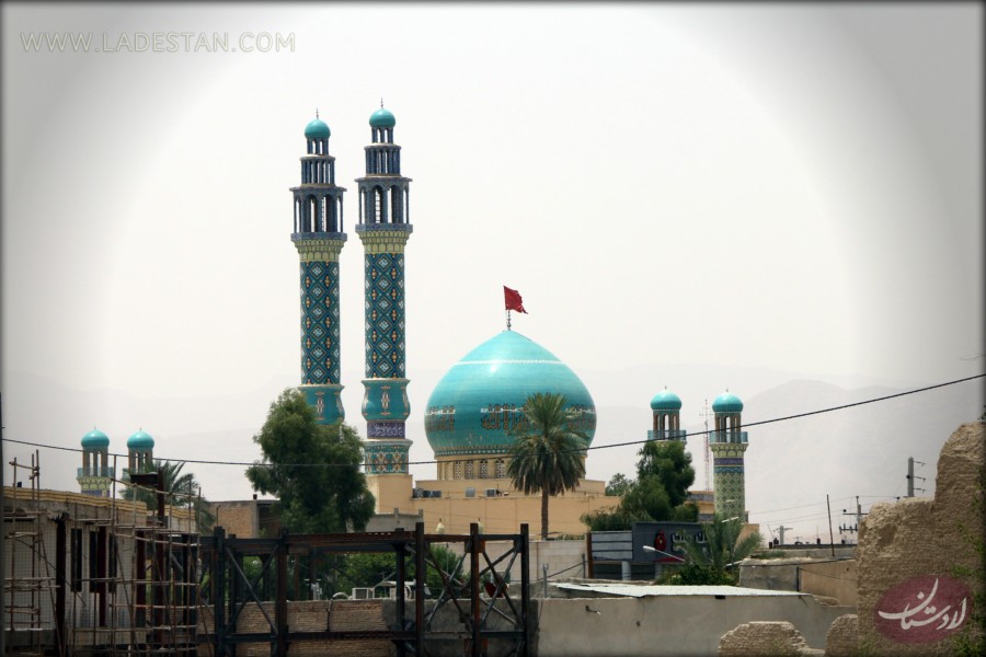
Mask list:
[[343,232],[343,192],[335,186],[335,158],[329,154],[329,126],[316,118],[305,128],[301,185],[295,195],[291,241],[301,261],[301,385],[319,424],[344,419],[340,393],[339,254]]

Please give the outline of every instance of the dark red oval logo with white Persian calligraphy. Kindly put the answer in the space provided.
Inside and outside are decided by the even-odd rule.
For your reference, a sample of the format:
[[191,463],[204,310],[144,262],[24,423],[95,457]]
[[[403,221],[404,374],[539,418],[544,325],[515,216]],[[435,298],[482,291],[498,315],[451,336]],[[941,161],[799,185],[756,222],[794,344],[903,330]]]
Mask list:
[[967,616],[968,588],[944,575],[906,579],[880,599],[876,629],[898,643],[930,643],[958,632]]

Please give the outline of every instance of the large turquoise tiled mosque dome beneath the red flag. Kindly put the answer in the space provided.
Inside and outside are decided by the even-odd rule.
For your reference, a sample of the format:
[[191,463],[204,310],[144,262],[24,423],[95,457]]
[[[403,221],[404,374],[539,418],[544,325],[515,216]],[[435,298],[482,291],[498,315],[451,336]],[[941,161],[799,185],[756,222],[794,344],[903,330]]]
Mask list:
[[592,442],[596,405],[585,384],[554,354],[514,331],[479,345],[449,368],[428,397],[425,434],[436,457],[502,454],[537,393],[563,394],[581,413],[577,427]]

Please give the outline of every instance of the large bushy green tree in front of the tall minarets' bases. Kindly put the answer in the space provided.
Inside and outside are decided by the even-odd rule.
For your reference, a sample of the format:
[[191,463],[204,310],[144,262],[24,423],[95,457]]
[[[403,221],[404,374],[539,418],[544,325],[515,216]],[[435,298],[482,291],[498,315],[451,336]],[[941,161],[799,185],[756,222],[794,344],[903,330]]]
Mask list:
[[278,498],[280,522],[295,533],[363,530],[376,502],[366,487],[363,446],[339,422],[319,425],[314,410],[289,388],[271,404],[253,437],[263,460],[246,469],[254,491]]

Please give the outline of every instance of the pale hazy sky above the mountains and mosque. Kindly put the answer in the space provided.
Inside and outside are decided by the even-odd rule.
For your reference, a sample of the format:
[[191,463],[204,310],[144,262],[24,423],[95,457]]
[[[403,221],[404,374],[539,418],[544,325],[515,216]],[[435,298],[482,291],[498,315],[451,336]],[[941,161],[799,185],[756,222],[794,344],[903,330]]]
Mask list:
[[[4,378],[177,399],[299,376],[288,188],[318,107],[348,188],[344,404],[364,431],[353,180],[381,96],[414,181],[412,413],[416,370],[503,328],[502,285],[529,311],[514,328],[576,372],[653,364],[629,405],[675,388],[662,364],[979,373],[982,12],[4,3]],[[88,51],[30,42],[62,33]],[[237,51],[196,51],[214,33]]]

